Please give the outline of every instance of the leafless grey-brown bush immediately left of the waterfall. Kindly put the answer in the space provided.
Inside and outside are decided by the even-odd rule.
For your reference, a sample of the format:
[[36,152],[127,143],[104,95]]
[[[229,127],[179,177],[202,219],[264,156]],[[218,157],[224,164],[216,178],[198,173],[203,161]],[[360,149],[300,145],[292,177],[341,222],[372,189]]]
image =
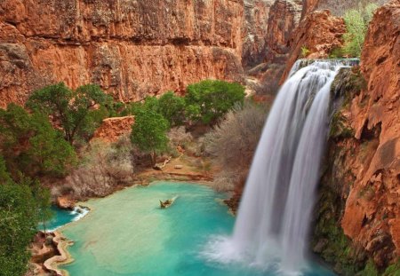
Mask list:
[[[216,183],[220,189],[242,184],[252,162],[266,119],[266,111],[251,102],[236,105],[224,120],[205,136],[205,150],[222,169]],[[231,180],[228,180],[230,178]]]

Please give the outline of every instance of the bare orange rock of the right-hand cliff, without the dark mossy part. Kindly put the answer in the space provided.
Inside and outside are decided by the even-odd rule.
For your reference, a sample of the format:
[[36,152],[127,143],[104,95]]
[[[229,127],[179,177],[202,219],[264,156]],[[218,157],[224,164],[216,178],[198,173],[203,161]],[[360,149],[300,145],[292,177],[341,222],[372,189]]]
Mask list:
[[[341,225],[385,265],[400,256],[400,1],[375,13],[361,69],[368,91],[353,99],[352,124],[357,139],[374,134],[376,148],[371,160],[359,164]],[[364,106],[356,108],[360,102]],[[388,245],[382,248],[385,240],[393,241],[396,254]]]

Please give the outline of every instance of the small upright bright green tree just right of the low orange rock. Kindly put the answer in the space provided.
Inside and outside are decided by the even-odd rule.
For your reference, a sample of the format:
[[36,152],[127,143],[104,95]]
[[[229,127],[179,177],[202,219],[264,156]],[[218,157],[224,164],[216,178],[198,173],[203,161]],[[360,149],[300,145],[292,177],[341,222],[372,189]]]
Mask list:
[[138,146],[140,151],[150,154],[153,166],[156,165],[156,154],[167,149],[168,129],[168,122],[163,115],[147,109],[136,111],[135,122],[132,125],[132,144]]

